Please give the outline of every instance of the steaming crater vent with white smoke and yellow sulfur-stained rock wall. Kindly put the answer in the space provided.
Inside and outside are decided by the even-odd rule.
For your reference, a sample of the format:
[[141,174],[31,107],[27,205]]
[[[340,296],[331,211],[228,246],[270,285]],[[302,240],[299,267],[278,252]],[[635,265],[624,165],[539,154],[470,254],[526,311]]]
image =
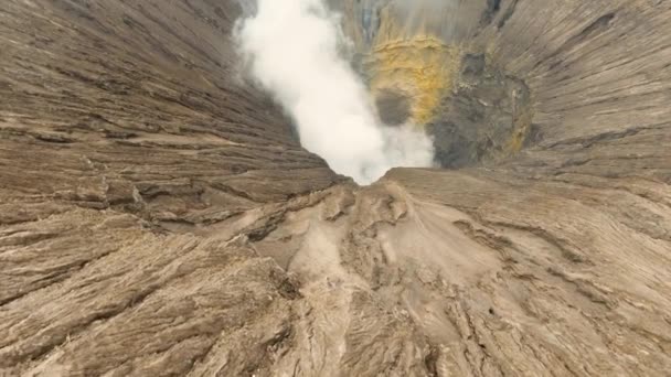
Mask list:
[[394,166],[496,163],[528,143],[529,87],[475,41],[498,7],[260,1],[238,39],[303,147],[370,183]]

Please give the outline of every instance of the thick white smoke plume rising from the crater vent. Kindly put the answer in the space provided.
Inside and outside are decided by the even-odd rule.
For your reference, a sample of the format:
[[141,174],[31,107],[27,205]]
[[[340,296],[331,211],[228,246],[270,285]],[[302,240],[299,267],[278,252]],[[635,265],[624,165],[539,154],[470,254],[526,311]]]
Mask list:
[[252,74],[291,115],[301,144],[333,171],[369,184],[394,166],[430,166],[433,143],[406,125],[382,126],[341,55],[338,14],[323,0],[257,0],[237,37]]

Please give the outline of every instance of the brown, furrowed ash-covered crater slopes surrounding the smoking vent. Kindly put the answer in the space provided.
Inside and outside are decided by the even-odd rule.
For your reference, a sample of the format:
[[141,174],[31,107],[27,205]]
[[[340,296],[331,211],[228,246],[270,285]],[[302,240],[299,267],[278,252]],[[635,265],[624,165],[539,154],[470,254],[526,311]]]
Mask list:
[[454,3],[407,112],[470,168],[360,188],[244,82],[236,2],[3,1],[0,375],[668,375],[671,4]]

